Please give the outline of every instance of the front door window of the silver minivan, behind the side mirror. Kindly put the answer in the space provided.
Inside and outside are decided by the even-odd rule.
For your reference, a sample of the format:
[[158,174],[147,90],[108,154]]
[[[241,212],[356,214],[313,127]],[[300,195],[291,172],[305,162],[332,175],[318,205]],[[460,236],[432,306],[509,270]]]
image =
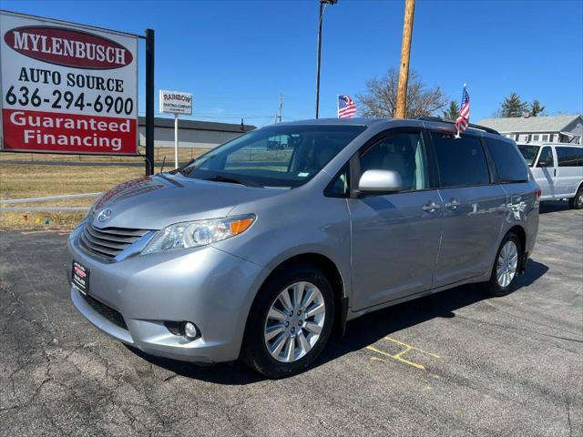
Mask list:
[[429,173],[420,133],[394,134],[381,139],[361,155],[361,173],[393,170],[401,175],[403,191],[429,188]]

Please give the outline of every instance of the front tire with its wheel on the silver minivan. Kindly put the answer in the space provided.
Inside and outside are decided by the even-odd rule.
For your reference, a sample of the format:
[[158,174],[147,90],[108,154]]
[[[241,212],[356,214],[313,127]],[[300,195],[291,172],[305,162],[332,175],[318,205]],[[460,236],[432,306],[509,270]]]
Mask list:
[[[299,290],[303,290],[300,304]],[[285,305],[284,292],[290,298]],[[309,296],[317,299],[305,305]],[[332,286],[320,269],[303,263],[282,269],[266,280],[251,306],[241,359],[272,379],[304,371],[330,338],[334,311]],[[317,330],[318,334],[312,332]],[[277,351],[279,347],[281,351]]]

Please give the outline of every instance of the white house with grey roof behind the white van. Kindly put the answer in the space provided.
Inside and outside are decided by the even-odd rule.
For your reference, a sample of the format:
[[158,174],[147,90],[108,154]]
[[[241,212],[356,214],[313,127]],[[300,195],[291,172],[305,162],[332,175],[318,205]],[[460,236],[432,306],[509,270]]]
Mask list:
[[583,116],[485,118],[478,125],[496,129],[515,141],[583,144]]

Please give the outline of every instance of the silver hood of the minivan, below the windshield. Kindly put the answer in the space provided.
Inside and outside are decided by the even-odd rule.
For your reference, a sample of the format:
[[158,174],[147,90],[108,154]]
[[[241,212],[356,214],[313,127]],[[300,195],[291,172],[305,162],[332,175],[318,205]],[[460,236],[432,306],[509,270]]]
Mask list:
[[281,190],[164,174],[112,188],[89,216],[97,228],[156,230],[181,221],[226,217],[241,203],[278,194]]

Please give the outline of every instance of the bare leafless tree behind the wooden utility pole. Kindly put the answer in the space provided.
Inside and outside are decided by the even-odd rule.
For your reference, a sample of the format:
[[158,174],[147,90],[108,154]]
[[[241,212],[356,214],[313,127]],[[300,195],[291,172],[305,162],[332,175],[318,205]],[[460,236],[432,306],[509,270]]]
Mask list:
[[[386,76],[366,82],[366,92],[356,96],[361,103],[363,117],[394,117],[397,107],[399,73],[391,68]],[[407,86],[407,118],[427,117],[445,107],[447,98],[440,86],[424,84],[415,70],[409,72]]]

